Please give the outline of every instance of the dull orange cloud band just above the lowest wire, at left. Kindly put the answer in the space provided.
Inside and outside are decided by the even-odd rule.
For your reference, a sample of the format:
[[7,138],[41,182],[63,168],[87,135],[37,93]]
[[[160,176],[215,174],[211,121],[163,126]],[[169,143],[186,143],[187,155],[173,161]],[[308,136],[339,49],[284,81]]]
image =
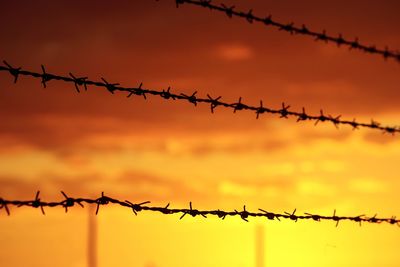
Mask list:
[[129,171],[118,177],[100,174],[68,176],[43,173],[34,179],[18,176],[0,176],[0,197],[5,199],[32,199],[40,190],[43,198],[61,197],[60,191],[76,197],[98,197],[104,191],[118,198],[151,201],[202,200],[215,201],[215,184],[207,191],[196,189],[190,181],[174,177],[160,177],[150,172]]

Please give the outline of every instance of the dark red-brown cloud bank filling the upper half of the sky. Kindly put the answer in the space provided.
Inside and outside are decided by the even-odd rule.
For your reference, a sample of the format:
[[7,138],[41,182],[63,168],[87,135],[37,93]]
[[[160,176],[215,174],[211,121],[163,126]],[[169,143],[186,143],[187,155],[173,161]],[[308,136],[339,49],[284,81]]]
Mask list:
[[[345,29],[346,36],[400,44],[396,35],[398,3],[393,1],[368,4],[362,12],[357,1],[232,3],[238,8],[252,6],[261,14],[268,10],[276,19],[306,23],[317,30],[323,25],[332,33]],[[186,94],[197,90],[201,96],[222,95],[228,102],[243,96],[246,103],[258,105],[263,99],[264,105],[274,108],[285,101],[294,110],[305,106],[318,114],[323,108],[327,114],[342,114],[350,120],[361,114],[375,117],[377,112],[399,112],[395,62],[248,25],[239,19],[229,20],[199,8],[176,9],[167,1],[121,1],[118,6],[106,1],[94,6],[39,1],[33,13],[32,5],[7,2],[0,11],[0,22],[10,25],[0,36],[0,48],[4,59],[15,66],[40,71],[40,64],[45,64],[49,72],[71,71],[123,85],[144,82],[146,87],[157,89],[172,86],[173,91]],[[252,56],[246,61],[221,59],[217,48],[235,44]],[[13,85],[12,77],[4,73],[0,87],[0,142],[4,146],[22,144],[54,150],[74,148],[92,136],[118,138],[121,133],[201,136],[268,130],[265,124],[269,121],[264,119],[268,115],[255,121],[254,114],[231,114],[217,108],[211,116],[208,106],[194,108],[189,103],[153,97],[148,101],[126,99],[122,94],[111,96],[94,88],[78,95],[72,85],[50,82],[43,89],[40,81],[22,77]],[[46,117],[52,117],[52,121]],[[341,138],[336,133],[326,134],[329,138],[331,135]],[[277,142],[261,146],[284,147]],[[200,144],[193,153],[254,149],[241,143],[223,148]]]

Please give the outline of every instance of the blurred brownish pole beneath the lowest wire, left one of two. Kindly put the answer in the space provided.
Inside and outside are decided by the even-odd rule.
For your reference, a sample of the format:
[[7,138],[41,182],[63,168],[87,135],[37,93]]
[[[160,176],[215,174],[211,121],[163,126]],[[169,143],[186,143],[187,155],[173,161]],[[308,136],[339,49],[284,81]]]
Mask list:
[[97,217],[96,205],[88,207],[88,242],[87,242],[87,260],[88,267],[97,267]]

